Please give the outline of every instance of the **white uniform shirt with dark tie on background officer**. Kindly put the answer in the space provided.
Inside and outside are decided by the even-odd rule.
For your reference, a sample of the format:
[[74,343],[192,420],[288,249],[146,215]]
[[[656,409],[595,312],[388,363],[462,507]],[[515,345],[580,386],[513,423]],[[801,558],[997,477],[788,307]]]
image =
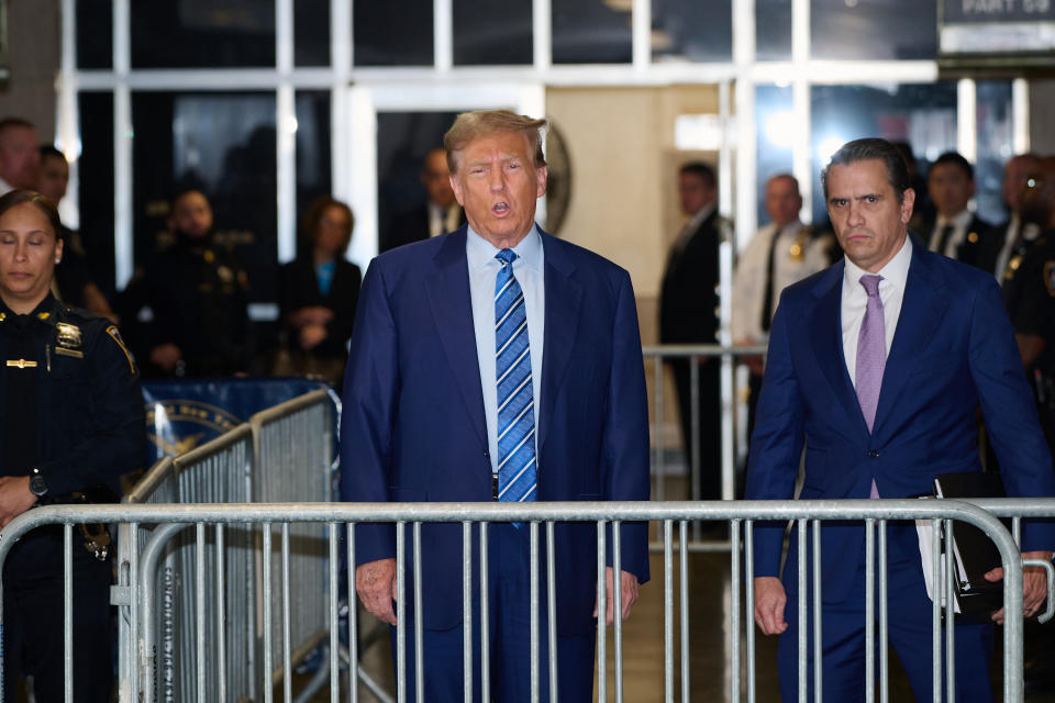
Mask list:
[[[774,243],[774,236],[776,242]],[[777,310],[780,291],[828,268],[828,237],[812,238],[806,226],[796,220],[780,232],[769,224],[755,233],[740,253],[733,272],[732,333],[733,341],[764,342],[768,333],[763,328],[765,298],[769,279],[769,248],[773,245],[773,298],[769,317]]]

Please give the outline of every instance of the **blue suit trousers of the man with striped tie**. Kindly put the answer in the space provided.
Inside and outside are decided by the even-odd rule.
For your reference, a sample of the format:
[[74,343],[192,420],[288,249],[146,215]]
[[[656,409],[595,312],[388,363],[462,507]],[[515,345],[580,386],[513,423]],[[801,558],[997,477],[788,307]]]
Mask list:
[[[540,527],[540,532],[542,532]],[[489,691],[491,701],[531,700],[531,572],[530,528],[492,523],[488,533],[488,634]],[[540,553],[544,537],[540,535]],[[460,578],[460,570],[449,577]],[[545,569],[541,566],[538,584],[538,700],[549,701],[549,646],[547,635]],[[474,574],[479,583],[479,574]],[[557,584],[559,590],[560,584]],[[408,593],[412,592],[410,589]],[[481,701],[480,607],[474,596],[473,609],[473,700]],[[409,611],[408,611],[409,612]],[[396,628],[391,629],[393,666],[398,652]],[[414,624],[408,617],[406,632],[407,700],[413,701]],[[424,629],[422,647],[424,700],[462,703],[465,700],[463,674],[464,627],[446,631]],[[557,687],[560,701],[587,702],[593,695],[596,633],[557,636]],[[398,676],[398,673],[397,673]]]

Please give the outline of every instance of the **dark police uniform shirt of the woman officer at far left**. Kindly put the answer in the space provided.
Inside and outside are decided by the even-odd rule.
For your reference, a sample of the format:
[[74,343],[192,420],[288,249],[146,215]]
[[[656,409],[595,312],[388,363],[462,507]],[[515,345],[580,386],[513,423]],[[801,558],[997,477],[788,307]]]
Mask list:
[[[0,303],[0,476],[43,470],[48,494],[103,484],[146,457],[138,371],[118,328],[104,317],[48,295],[29,315]],[[35,410],[33,410],[35,405]],[[15,425],[27,428],[18,456],[8,447]],[[9,464],[9,461],[11,464]]]

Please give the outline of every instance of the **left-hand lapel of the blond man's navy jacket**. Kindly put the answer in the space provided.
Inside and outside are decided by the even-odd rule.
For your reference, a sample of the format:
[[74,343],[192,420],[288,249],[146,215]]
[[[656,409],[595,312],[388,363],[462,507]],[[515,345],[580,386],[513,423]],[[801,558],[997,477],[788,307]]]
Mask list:
[[465,227],[447,236],[434,259],[435,270],[425,277],[424,286],[447,365],[473,421],[473,428],[486,445],[487,421],[484,417],[480,366],[476,358],[465,237]]

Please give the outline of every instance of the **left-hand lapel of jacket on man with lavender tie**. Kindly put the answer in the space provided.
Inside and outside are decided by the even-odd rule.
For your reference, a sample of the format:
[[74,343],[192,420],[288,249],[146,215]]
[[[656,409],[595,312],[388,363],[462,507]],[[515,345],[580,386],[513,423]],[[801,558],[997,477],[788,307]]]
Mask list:
[[832,266],[813,289],[817,304],[810,319],[810,341],[817,362],[821,367],[829,387],[843,405],[846,417],[852,417],[854,428],[868,434],[868,426],[860,412],[860,403],[854,392],[854,384],[846,371],[846,357],[843,355],[843,335],[841,311],[843,304],[844,263]]

